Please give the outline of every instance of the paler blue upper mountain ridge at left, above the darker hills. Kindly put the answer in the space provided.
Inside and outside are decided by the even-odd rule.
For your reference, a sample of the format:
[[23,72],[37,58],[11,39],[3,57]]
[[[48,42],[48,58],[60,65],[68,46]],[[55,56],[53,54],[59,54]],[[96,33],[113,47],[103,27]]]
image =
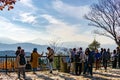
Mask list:
[[16,51],[17,47],[21,46],[26,52],[32,52],[33,48],[37,48],[38,52],[46,51],[47,45],[37,45],[32,43],[16,43],[16,44],[4,44],[0,43],[0,51],[13,50]]

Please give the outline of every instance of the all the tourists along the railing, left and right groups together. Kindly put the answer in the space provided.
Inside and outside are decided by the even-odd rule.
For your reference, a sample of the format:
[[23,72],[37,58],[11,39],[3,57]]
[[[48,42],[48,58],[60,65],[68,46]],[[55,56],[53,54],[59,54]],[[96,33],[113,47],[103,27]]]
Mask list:
[[[51,47],[47,47],[48,52],[47,60],[49,65],[50,73],[53,73],[53,66],[52,63],[54,61],[54,50]],[[112,68],[120,68],[120,48],[117,47],[113,51],[110,49],[101,48],[100,50],[90,50],[86,48],[83,51],[82,47],[80,48],[73,48],[69,50],[69,73],[74,75],[86,75],[89,74],[93,76],[93,67],[95,70],[99,70],[101,67],[107,71],[107,67],[109,63],[112,63]],[[27,70],[32,70],[33,74],[36,74],[38,65],[39,65],[39,58],[43,56],[43,53],[39,54],[37,52],[37,48],[34,48],[30,60],[27,61],[25,57],[25,51],[20,46],[17,47],[16,50],[16,63],[17,63],[17,71],[18,71],[18,78],[20,79],[20,74],[22,73],[23,78],[26,79],[25,72]]]

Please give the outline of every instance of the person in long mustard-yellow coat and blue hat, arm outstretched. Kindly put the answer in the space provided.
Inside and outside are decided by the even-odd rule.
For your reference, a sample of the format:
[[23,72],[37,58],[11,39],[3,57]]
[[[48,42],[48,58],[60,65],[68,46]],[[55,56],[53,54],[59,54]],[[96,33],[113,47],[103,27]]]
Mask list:
[[36,74],[35,72],[37,71],[37,67],[39,64],[38,60],[42,55],[43,55],[43,53],[39,54],[37,52],[37,48],[33,49],[33,52],[31,53],[31,60],[30,60],[31,65],[32,65],[32,69],[33,69],[33,74]]

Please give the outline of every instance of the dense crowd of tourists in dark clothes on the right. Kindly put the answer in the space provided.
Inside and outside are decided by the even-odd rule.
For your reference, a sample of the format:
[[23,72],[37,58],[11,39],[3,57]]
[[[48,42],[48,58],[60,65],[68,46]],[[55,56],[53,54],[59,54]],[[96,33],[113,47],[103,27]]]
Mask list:
[[113,51],[110,49],[101,48],[100,50],[90,50],[86,48],[83,51],[82,47],[79,49],[70,49],[69,55],[70,73],[75,75],[93,75],[93,67],[95,70],[104,68],[107,71],[107,67],[112,63],[112,68],[120,68],[120,48],[117,47]]

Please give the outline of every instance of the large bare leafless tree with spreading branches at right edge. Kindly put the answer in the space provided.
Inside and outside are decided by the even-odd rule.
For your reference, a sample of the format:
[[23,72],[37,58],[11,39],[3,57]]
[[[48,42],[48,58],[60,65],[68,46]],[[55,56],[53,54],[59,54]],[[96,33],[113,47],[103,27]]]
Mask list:
[[85,18],[95,26],[96,34],[113,39],[120,46],[120,0],[99,0]]

